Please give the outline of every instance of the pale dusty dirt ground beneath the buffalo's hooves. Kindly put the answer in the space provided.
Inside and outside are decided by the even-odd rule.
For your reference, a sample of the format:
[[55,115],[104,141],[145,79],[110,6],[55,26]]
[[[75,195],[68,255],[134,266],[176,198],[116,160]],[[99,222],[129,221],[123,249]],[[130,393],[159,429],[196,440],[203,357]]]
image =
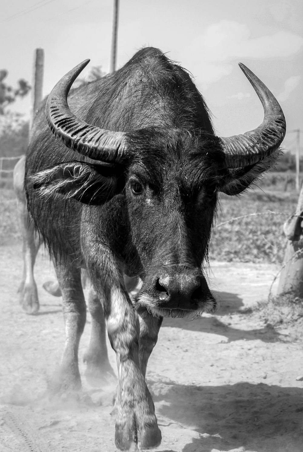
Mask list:
[[[115,381],[92,388],[82,377],[87,397],[73,404],[46,395],[64,343],[61,298],[42,288],[54,274],[48,259],[39,253],[35,316],[18,304],[20,244],[0,247],[0,268],[0,451],[115,451]],[[216,261],[211,268],[221,309],[194,321],[165,319],[149,360],[147,384],[163,438],[156,450],[302,452],[302,341],[291,339],[291,323],[277,329],[250,309],[266,300],[279,268]],[[82,375],[89,315],[87,324]]]

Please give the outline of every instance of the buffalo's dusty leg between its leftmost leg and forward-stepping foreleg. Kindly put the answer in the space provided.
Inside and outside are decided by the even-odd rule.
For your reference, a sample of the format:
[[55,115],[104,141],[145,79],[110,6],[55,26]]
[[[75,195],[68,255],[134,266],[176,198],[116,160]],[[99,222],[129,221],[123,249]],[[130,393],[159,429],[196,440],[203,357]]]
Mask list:
[[103,306],[92,287],[88,292],[88,310],[91,314],[91,339],[83,361],[87,363],[87,381],[95,386],[100,382],[108,382],[108,377],[115,377],[115,372],[108,360]]

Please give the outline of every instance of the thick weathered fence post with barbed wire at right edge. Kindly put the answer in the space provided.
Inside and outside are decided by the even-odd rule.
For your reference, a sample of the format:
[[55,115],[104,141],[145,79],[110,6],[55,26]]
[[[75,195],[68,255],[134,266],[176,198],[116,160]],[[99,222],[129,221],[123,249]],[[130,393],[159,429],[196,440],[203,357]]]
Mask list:
[[[301,218],[300,218],[301,217]],[[284,223],[284,234],[288,238],[284,256],[278,295],[293,293],[303,298],[303,187],[301,188],[295,215]],[[301,236],[301,238],[300,238]]]

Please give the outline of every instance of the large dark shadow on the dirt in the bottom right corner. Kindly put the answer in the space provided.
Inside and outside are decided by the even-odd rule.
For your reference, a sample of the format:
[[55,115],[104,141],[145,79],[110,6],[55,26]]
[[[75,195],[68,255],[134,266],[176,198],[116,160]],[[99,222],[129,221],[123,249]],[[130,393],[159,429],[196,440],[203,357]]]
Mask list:
[[[187,386],[155,383],[158,413],[196,438],[182,452],[243,450],[301,452],[303,393],[264,383]],[[163,403],[164,402],[164,403]],[[197,438],[197,433],[200,438]]]

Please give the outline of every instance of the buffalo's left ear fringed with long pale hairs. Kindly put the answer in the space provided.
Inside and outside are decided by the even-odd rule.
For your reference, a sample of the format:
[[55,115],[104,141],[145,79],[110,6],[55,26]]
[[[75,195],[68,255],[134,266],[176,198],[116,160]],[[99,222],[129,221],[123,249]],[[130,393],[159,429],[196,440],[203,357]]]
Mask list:
[[41,196],[61,195],[65,199],[73,198],[95,206],[109,201],[124,188],[121,168],[78,161],[61,163],[29,179]]

